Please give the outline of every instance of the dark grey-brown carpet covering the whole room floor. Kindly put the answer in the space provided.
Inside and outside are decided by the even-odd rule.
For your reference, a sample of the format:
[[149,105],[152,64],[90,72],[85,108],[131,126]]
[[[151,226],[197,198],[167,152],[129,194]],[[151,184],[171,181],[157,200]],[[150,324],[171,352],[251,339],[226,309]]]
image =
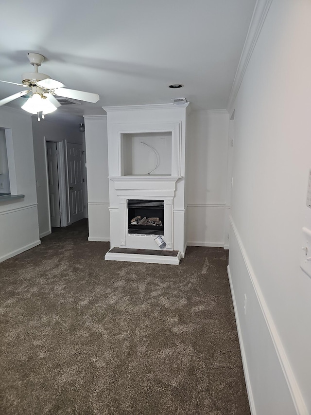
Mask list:
[[227,253],[108,249],[82,220],[0,264],[0,414],[249,414]]

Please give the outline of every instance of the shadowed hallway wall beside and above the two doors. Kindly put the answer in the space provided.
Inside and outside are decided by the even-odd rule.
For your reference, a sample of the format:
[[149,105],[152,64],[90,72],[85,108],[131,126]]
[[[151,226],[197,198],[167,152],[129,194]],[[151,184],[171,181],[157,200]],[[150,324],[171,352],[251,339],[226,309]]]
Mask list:
[[[48,116],[47,116],[48,117]],[[35,153],[35,180],[37,181],[38,220],[40,237],[51,233],[49,218],[49,188],[46,170],[46,141],[83,144],[83,134],[79,131],[79,122],[49,121],[47,117],[40,122],[36,117],[32,118]],[[79,120],[78,120],[79,121]],[[83,119],[80,121],[83,122]],[[44,139],[45,137],[45,139]],[[66,149],[65,149],[66,152]],[[66,154],[65,154],[66,157]],[[66,179],[67,184],[67,179]],[[67,206],[69,209],[69,206]],[[67,215],[69,220],[69,211]]]

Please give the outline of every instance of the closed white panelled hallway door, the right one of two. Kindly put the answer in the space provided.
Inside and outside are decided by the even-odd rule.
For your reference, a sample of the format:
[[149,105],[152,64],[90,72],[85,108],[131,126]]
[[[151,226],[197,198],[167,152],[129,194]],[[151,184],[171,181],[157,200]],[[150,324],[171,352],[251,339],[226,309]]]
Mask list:
[[83,219],[84,178],[82,144],[67,144],[70,223]]

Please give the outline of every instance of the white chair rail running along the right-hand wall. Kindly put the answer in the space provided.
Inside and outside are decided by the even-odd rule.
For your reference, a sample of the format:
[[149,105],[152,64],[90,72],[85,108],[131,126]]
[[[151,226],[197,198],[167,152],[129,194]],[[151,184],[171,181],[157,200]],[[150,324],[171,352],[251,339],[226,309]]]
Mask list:
[[270,311],[269,311],[269,308],[268,308],[267,303],[265,301],[265,298],[264,298],[264,296],[261,292],[261,289],[259,287],[259,283],[258,283],[258,280],[256,278],[255,272],[254,272],[253,267],[250,263],[248,255],[245,251],[244,245],[242,243],[242,239],[241,239],[241,237],[238,233],[238,230],[235,226],[234,220],[231,217],[231,215],[229,216],[229,220],[230,220],[233,232],[235,233],[235,236],[237,238],[239,248],[240,248],[240,251],[242,253],[242,257],[243,257],[247,272],[249,274],[251,283],[253,285],[253,289],[254,289],[254,292],[256,294],[256,297],[257,297],[262,315],[264,317],[265,323],[266,323],[267,328],[269,330],[269,334],[271,336],[272,343],[275,347],[276,355],[277,355],[278,361],[280,363],[280,366],[282,368],[284,378],[285,378],[286,383],[288,385],[290,394],[292,396],[296,412],[299,415],[308,415],[309,411],[308,411],[306,403],[305,403],[305,401],[302,397],[301,391],[299,389],[297,380],[294,376],[294,372],[292,370],[290,362],[287,358],[287,355],[286,355],[285,349],[283,347],[283,344],[281,342],[281,339],[278,335],[276,325],[274,324],[273,318],[270,314]]

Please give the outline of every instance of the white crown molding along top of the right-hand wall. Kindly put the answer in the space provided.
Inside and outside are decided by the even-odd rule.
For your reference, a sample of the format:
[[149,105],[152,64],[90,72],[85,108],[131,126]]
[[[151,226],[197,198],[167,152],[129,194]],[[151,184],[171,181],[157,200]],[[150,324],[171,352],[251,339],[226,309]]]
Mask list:
[[272,0],[257,0],[254,13],[248,28],[248,32],[246,35],[246,40],[243,46],[242,54],[240,57],[239,65],[237,72],[234,77],[234,81],[232,84],[227,111],[229,114],[234,109],[234,101],[240,89],[244,73],[248,66],[248,62],[253,54],[254,48],[257,43],[257,39],[260,35],[263,23],[267,17],[269,8],[271,6]]

